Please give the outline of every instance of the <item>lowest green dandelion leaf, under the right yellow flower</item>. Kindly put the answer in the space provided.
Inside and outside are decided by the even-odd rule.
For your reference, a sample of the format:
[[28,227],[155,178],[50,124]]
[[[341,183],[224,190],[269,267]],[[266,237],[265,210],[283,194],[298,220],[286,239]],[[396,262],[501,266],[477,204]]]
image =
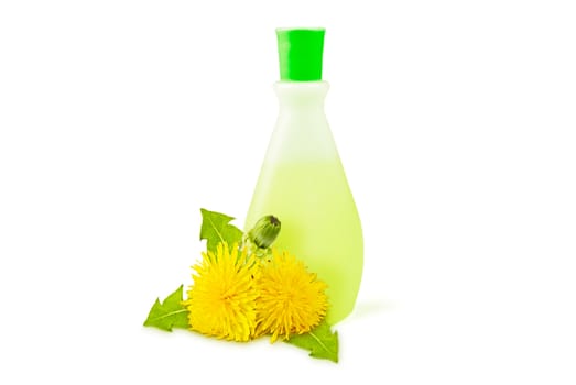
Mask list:
[[285,342],[309,351],[315,359],[338,362],[338,332],[333,333],[326,321],[305,334],[292,336]]

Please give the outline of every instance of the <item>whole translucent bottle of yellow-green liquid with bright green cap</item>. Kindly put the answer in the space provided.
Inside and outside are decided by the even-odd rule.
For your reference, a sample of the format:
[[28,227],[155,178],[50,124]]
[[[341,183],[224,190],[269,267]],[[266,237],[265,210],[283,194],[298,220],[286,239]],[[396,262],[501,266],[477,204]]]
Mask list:
[[324,29],[276,30],[279,117],[244,228],[263,216],[282,221],[274,246],[304,261],[328,288],[329,324],[354,309],[363,264],[358,211],[326,116]]

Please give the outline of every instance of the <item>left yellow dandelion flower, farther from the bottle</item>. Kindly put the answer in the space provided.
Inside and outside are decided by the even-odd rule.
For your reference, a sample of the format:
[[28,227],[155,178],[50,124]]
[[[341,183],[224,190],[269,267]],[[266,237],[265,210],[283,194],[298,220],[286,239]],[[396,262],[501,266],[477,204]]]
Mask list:
[[230,251],[227,243],[218,244],[216,254],[202,255],[202,264],[193,266],[194,285],[184,300],[191,329],[219,339],[248,341],[256,327],[254,256],[248,257],[246,249],[239,255],[238,245]]

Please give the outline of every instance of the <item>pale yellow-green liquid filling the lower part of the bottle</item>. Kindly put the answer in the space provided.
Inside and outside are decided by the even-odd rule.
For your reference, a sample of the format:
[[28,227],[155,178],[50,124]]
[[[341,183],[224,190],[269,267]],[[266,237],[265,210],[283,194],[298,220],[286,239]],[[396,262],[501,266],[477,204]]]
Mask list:
[[327,322],[348,316],[360,287],[360,220],[339,158],[264,163],[246,229],[274,215],[282,230],[273,246],[304,261],[328,288]]

